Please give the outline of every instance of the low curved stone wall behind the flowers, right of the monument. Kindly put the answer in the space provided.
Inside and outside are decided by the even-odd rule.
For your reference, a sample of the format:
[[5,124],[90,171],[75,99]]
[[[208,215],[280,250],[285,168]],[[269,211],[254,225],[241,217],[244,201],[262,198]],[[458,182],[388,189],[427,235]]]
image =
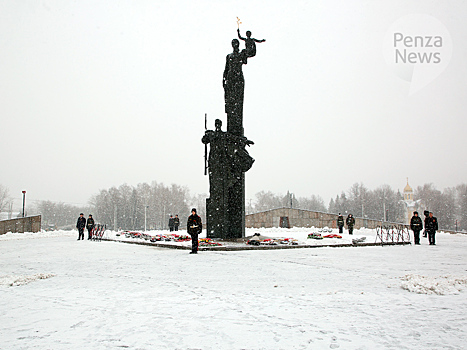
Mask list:
[[[337,214],[319,211],[278,208],[245,216],[245,226],[248,228],[271,227],[330,227],[337,228]],[[282,218],[282,220],[281,220]],[[287,219],[285,219],[287,218]],[[344,220],[346,217],[344,216]],[[381,220],[355,218],[355,229],[361,227],[375,229],[381,225]],[[347,225],[345,225],[347,227]]]

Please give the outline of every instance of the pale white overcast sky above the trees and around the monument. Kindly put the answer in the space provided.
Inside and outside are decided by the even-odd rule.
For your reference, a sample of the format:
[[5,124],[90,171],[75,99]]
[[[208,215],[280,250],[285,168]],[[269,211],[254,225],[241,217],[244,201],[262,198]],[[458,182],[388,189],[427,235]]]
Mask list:
[[[410,94],[383,52],[414,14],[445,26],[452,57]],[[237,16],[266,39],[243,69],[247,199],[466,182],[465,1],[2,0],[0,184],[18,200],[83,204],[153,180],[208,193],[204,114],[226,126]]]

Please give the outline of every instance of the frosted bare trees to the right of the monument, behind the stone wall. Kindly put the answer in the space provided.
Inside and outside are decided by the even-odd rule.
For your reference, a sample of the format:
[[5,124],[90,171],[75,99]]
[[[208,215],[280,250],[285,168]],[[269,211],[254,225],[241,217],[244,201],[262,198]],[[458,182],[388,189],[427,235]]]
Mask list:
[[[440,191],[433,184],[418,186],[414,190],[414,200],[423,211],[432,211],[438,218],[440,228],[467,231],[467,184],[460,184]],[[382,185],[370,190],[362,183],[355,183],[347,191],[332,198],[326,208],[320,196],[298,197],[287,192],[286,195],[261,191],[256,194],[256,202],[247,202],[248,212],[260,212],[275,208],[288,207],[308,209],[329,213],[353,214],[357,217],[404,222],[406,205],[399,190]]]

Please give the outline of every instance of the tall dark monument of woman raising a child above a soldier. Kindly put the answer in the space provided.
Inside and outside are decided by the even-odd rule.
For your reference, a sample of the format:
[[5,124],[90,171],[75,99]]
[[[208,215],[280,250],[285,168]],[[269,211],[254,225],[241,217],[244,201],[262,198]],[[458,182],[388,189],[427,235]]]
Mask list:
[[[238,18],[237,23],[241,23]],[[240,42],[233,39],[233,51],[226,57],[222,85],[227,131],[222,130],[222,121],[216,119],[215,130],[206,130],[202,138],[205,145],[210,145],[209,157],[205,155],[210,195],[206,199],[207,237],[226,240],[245,237],[245,173],[255,160],[246,150],[246,146],[254,143],[244,136],[243,130],[242,67],[256,55],[255,43],[265,41],[251,38],[249,31],[247,38],[240,35],[240,29],[237,32],[246,48],[240,51]]]

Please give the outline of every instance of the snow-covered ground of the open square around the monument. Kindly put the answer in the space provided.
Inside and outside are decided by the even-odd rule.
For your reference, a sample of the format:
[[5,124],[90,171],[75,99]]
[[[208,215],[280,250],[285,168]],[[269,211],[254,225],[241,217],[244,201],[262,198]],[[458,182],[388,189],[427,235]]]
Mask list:
[[[306,241],[310,230],[249,230]],[[334,231],[335,233],[335,231]],[[354,237],[374,242],[372,230]],[[190,255],[0,236],[1,349],[463,349],[467,235]],[[342,241],[350,242],[348,234]]]

